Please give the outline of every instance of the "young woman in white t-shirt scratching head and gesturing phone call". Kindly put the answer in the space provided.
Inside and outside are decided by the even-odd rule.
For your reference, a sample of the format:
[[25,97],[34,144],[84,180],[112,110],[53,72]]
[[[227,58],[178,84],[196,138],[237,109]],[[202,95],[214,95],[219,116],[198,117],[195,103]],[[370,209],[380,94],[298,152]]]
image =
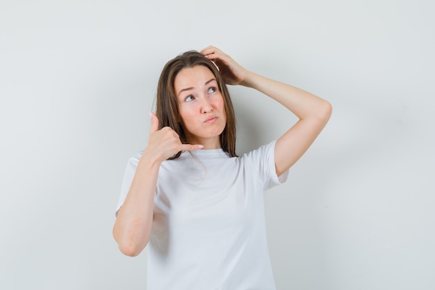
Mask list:
[[[299,120],[238,157],[226,84],[259,90]],[[169,61],[148,145],[129,160],[113,227],[125,255],[148,245],[148,289],[275,289],[263,191],[286,181],[330,115],[327,101],[250,72],[215,47]]]

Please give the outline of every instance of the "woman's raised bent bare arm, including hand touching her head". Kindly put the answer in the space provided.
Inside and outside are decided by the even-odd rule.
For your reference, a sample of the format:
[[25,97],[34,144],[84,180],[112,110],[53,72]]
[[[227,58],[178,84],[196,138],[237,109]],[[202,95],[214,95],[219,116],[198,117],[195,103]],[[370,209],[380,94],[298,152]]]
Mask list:
[[308,150],[325,127],[331,116],[331,104],[299,88],[249,72],[215,47],[207,47],[201,53],[219,67],[228,84],[240,84],[263,92],[299,118],[275,145],[277,175],[284,173]]

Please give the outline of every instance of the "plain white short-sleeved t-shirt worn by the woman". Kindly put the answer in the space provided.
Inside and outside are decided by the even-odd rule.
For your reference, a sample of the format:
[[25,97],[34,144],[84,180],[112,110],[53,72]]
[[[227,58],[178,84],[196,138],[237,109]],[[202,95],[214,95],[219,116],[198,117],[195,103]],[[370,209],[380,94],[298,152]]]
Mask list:
[[[148,249],[149,290],[275,289],[263,191],[277,177],[274,144],[240,157],[222,149],[183,152],[158,172]],[[117,210],[140,159],[126,168]]]

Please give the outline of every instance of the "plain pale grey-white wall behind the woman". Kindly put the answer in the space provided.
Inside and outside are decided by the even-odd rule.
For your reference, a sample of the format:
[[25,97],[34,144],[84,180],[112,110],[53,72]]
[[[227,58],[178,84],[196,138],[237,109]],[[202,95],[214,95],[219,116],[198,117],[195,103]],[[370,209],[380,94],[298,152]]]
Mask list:
[[[332,118],[266,193],[278,289],[435,289],[435,3],[0,2],[0,289],[145,289],[111,235],[163,65],[220,47]],[[295,122],[231,87],[238,153]]]

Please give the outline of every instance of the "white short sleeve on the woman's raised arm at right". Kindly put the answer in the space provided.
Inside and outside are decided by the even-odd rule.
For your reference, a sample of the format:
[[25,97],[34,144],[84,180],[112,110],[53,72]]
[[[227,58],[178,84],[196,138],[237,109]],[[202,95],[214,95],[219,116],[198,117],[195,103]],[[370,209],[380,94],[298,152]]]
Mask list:
[[279,184],[283,184],[288,178],[288,170],[280,176],[277,176],[274,159],[275,143],[276,140],[243,156],[247,164],[251,164],[254,168],[258,169],[258,175],[263,179],[264,191]]

